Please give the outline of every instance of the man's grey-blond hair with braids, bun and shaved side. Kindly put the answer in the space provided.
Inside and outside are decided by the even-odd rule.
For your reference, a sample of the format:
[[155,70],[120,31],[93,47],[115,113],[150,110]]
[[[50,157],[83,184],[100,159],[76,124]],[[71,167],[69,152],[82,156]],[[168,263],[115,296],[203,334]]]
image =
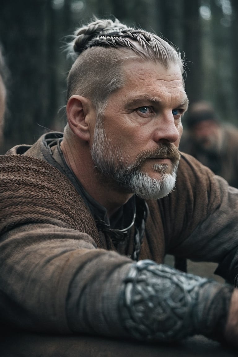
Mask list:
[[94,19],[80,27],[67,46],[75,60],[68,76],[67,99],[79,94],[92,100],[103,111],[110,93],[125,84],[121,65],[125,60],[161,63],[166,69],[178,64],[183,73],[179,51],[151,32],[129,28],[115,19]]

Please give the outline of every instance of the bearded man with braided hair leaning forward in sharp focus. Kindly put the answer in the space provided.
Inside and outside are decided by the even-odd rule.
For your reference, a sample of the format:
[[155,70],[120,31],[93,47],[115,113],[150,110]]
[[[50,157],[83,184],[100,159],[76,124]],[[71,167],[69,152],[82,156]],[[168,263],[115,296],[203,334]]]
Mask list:
[[178,151],[180,55],[117,20],[80,28],[72,45],[64,136],[0,158],[3,323],[235,343],[237,290],[161,264],[217,261],[237,284],[238,191]]

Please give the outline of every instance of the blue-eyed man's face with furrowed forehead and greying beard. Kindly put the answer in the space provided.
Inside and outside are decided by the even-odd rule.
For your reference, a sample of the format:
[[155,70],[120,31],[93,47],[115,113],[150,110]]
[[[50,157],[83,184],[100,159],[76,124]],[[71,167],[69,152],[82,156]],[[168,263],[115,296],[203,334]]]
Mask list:
[[105,184],[144,198],[166,196],[174,187],[187,109],[178,65],[124,65],[126,85],[113,92],[98,118],[92,159]]

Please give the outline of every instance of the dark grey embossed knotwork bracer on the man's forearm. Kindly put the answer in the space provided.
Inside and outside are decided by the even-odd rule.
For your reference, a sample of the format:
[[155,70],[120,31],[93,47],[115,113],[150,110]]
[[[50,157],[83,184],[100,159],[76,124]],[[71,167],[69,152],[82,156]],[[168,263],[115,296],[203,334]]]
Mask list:
[[231,293],[230,286],[142,260],[125,279],[120,314],[128,334],[140,340],[196,333],[221,340]]

